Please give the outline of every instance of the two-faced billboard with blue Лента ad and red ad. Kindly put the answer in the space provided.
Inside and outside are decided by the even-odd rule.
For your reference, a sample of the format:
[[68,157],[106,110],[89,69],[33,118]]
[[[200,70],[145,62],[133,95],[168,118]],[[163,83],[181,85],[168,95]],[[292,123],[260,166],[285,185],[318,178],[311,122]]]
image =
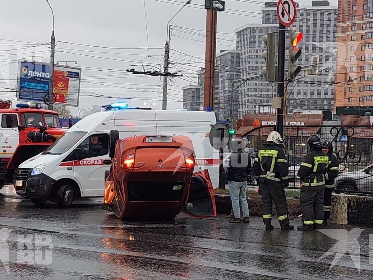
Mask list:
[[[49,92],[49,63],[19,60],[17,98],[26,102],[44,102]],[[53,101],[56,105],[78,106],[81,69],[54,66]]]

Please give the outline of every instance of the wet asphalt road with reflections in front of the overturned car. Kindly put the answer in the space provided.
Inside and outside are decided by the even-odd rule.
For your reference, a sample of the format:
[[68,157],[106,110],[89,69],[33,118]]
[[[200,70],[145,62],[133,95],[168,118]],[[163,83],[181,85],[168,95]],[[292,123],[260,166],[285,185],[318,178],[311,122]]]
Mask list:
[[[368,249],[372,229],[364,229],[358,239],[360,273],[351,255],[342,256],[329,271],[335,254],[318,259],[337,240],[318,231],[280,231],[275,221],[275,230],[266,232],[260,218],[229,224],[223,215],[200,220],[180,214],[166,223],[125,222],[100,204],[101,199],[89,199],[76,201],[69,209],[53,203],[39,209],[15,195],[13,187],[4,187],[0,232],[11,231],[5,243],[0,241],[0,259],[9,247],[9,274],[0,264],[0,279],[373,279],[373,236],[372,264]],[[33,262],[23,261],[24,247],[17,239],[25,234],[51,240],[51,246],[43,247],[51,264],[33,259],[32,250]]]

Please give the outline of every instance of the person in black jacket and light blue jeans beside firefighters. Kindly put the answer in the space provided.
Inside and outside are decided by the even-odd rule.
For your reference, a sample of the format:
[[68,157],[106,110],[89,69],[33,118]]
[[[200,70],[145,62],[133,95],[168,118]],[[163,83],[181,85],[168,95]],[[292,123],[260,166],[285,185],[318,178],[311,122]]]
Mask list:
[[251,160],[248,153],[242,152],[242,140],[232,141],[232,155],[228,167],[229,194],[231,195],[234,218],[229,223],[241,223],[239,203],[241,202],[244,223],[249,223],[247,204],[247,180],[251,172]]

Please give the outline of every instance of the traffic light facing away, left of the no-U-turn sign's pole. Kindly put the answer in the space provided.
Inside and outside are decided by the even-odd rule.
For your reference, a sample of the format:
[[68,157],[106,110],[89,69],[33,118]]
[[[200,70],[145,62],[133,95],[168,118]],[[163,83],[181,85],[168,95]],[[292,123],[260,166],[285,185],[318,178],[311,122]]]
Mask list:
[[266,60],[266,67],[261,69],[261,74],[266,77],[266,81],[276,82],[276,34],[267,33],[263,36],[267,50],[261,53],[261,57]]

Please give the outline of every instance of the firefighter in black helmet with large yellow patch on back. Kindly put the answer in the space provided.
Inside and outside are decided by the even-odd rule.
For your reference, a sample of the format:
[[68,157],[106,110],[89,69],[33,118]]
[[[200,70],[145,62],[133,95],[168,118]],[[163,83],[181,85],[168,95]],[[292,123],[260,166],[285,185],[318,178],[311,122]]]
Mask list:
[[302,180],[300,208],[303,213],[303,225],[298,227],[298,230],[321,228],[324,221],[324,170],[329,157],[322,151],[319,136],[312,134],[307,142],[311,152],[298,170],[298,176]]

